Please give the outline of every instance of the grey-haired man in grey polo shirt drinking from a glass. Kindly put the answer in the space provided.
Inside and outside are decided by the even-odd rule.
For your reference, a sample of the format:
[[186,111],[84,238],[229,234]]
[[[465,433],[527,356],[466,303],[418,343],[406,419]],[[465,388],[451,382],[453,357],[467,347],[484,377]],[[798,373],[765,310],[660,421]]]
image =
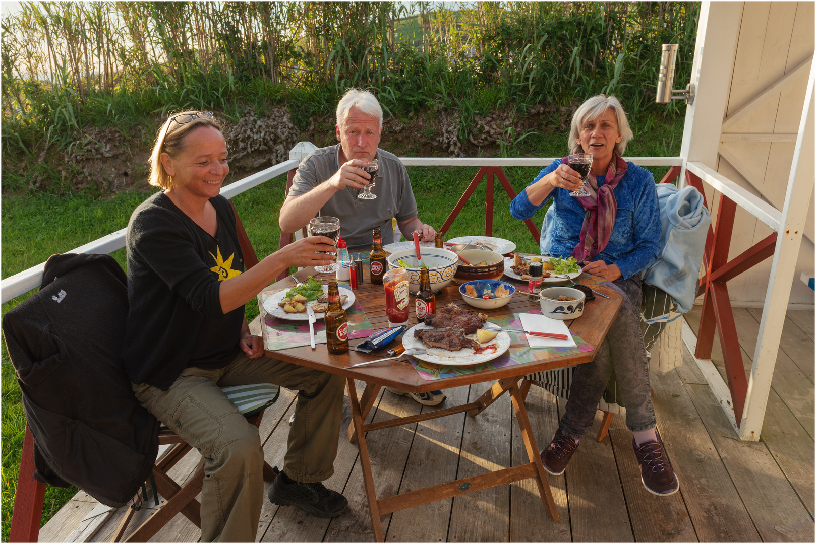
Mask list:
[[[328,215],[340,219],[340,236],[348,250],[371,249],[371,231],[379,228],[383,240],[393,239],[392,218],[406,238],[415,231],[420,240],[432,241],[436,231],[417,217],[416,200],[405,166],[393,153],[378,148],[383,130],[383,109],[369,91],[349,89],[337,104],[339,144],[315,149],[300,162],[278,223],[283,232],[295,232],[313,217]],[[376,198],[357,198],[370,183],[362,169],[364,159],[379,161]],[[388,387],[397,395],[410,396],[423,405],[435,406],[445,400],[442,391],[413,393]]]

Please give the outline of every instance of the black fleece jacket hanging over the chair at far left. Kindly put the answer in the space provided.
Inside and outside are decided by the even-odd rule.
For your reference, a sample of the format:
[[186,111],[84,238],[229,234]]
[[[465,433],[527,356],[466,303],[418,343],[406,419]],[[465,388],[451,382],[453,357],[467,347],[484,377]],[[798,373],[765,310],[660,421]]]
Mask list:
[[38,293],[7,312],[3,338],[36,446],[34,478],[125,506],[147,479],[158,422],[122,365],[127,278],[105,254],[55,254]]

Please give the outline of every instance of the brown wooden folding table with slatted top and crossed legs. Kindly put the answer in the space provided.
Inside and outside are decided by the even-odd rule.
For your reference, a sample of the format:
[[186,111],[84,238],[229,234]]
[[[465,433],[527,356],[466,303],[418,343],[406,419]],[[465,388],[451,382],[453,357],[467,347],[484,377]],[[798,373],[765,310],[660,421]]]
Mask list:
[[[308,275],[314,275],[321,279],[327,280],[330,278],[328,274],[317,275],[311,269],[304,269],[298,272],[298,277],[302,280]],[[284,281],[279,281],[275,286],[281,288],[294,285],[291,278],[286,278]],[[468,307],[463,302],[459,295],[459,285],[455,283],[447,286],[437,294],[437,310],[447,303],[457,303],[459,307],[474,309]],[[618,313],[622,302],[622,297],[617,291],[611,290],[607,287],[600,286],[593,288],[601,293],[609,295],[609,299],[603,297],[596,297],[595,300],[589,302],[584,311],[583,316],[568,322],[570,329],[578,334],[580,338],[589,343],[593,347],[597,347],[603,341],[607,331],[614,320],[614,316]],[[374,329],[384,329],[388,326],[388,318],[385,314],[384,289],[382,285],[372,285],[366,282],[359,286],[355,291],[357,300],[361,307],[366,312]],[[411,298],[413,301],[413,298]],[[479,310],[486,313],[490,317],[507,316],[510,313],[526,312],[534,309],[539,309],[539,303],[530,302],[527,300],[527,294],[524,291],[517,290],[513,295],[512,300],[504,307],[496,310]],[[409,326],[416,324],[416,318],[411,312]],[[352,345],[360,343],[362,338],[352,340]],[[395,344],[396,345],[396,344]],[[491,369],[483,372],[476,372],[473,374],[465,374],[453,378],[442,378],[435,381],[426,381],[419,377],[417,371],[407,364],[404,360],[384,361],[375,363],[374,365],[367,365],[357,367],[355,369],[348,369],[349,365],[363,362],[366,360],[374,360],[380,356],[368,355],[366,353],[349,350],[343,355],[330,355],[326,351],[326,344],[317,344],[316,349],[309,346],[293,347],[286,350],[279,350],[274,352],[266,352],[270,357],[275,357],[280,360],[286,360],[297,365],[306,366],[308,368],[319,369],[332,374],[339,374],[348,380],[348,399],[351,404],[353,421],[348,428],[349,440],[357,440],[360,448],[360,462],[363,474],[363,480],[366,485],[366,496],[370,507],[371,525],[374,529],[374,534],[377,542],[384,541],[383,528],[380,524],[379,516],[385,515],[393,511],[404,510],[411,506],[419,506],[427,502],[438,501],[443,498],[454,497],[464,493],[470,493],[479,489],[487,489],[496,485],[510,484],[518,480],[526,480],[527,478],[534,478],[539,486],[539,495],[543,502],[544,508],[548,511],[553,521],[558,521],[558,512],[556,510],[555,502],[552,499],[552,492],[548,484],[546,472],[544,471],[539,457],[539,448],[536,445],[533,429],[530,427],[530,419],[527,417],[527,411],[524,405],[524,397],[526,391],[520,391],[518,382],[526,374],[533,372],[540,372],[543,370],[551,370],[563,368],[565,366],[577,365],[592,360],[594,352],[582,352],[577,355],[558,356],[546,360],[538,360],[524,365],[508,366],[502,369]],[[361,380],[366,383],[366,388],[362,396],[357,398],[357,387],[355,387],[354,380]],[[459,387],[464,385],[471,385],[473,383],[495,382],[493,387],[475,402],[466,405],[455,406],[446,409],[438,409],[425,414],[418,414],[407,418],[395,418],[387,421],[364,423],[369,410],[374,405],[375,399],[382,387],[396,387],[403,391],[414,391],[417,393],[425,391],[434,391],[437,389],[450,389],[451,387]],[[433,485],[425,489],[417,489],[408,493],[398,493],[392,497],[377,498],[374,487],[374,480],[371,474],[371,466],[366,445],[366,431],[375,431],[377,429],[384,429],[387,427],[397,427],[406,423],[420,422],[433,418],[441,418],[447,415],[460,414],[468,412],[468,414],[479,414],[483,409],[491,405],[499,396],[509,391],[512,398],[513,410],[517,416],[517,422],[521,429],[521,436],[526,446],[527,455],[530,462],[518,465],[517,467],[504,468],[499,471],[487,472],[486,474],[476,475],[461,480],[441,483]]]

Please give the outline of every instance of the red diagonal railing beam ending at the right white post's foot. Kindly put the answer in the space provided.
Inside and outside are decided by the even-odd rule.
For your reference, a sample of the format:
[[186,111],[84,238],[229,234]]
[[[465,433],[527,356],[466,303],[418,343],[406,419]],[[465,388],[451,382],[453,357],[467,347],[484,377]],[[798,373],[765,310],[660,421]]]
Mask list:
[[743,407],[748,391],[743,352],[739,347],[734,313],[728,298],[728,287],[719,282],[712,282],[710,285],[708,292],[712,294],[716,328],[720,334],[722,357],[725,360],[725,375],[728,377],[728,388],[731,390],[731,402],[734,403],[734,418],[737,419],[737,425],[739,425],[743,419]]

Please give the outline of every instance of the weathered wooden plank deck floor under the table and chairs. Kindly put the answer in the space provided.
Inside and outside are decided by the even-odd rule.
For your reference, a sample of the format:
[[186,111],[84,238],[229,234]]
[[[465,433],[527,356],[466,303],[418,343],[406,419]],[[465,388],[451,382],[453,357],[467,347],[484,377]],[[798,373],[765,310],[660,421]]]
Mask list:
[[[746,309],[734,312],[747,368],[760,315]],[[687,319],[695,329],[698,313],[691,312]],[[712,358],[721,365],[718,349]],[[485,387],[446,391],[449,400],[442,407],[474,400]],[[565,475],[550,477],[559,523],[553,524],[544,512],[534,481],[525,480],[385,515],[387,541],[814,542],[814,312],[787,314],[761,442],[737,439],[688,352],[678,369],[654,374],[652,387],[658,425],[681,493],[669,498],[647,493],[623,418],[616,416],[610,436],[598,443],[593,438],[598,417]],[[293,393],[283,391],[264,416],[260,431],[271,464],[282,462],[294,399]],[[533,387],[527,405],[543,447],[557,428],[563,401]],[[420,409],[428,408],[384,391],[370,418],[406,416]],[[476,418],[458,414],[370,432],[378,496],[526,462],[513,418],[510,400],[503,396]],[[349,419],[347,403],[344,429]],[[371,542],[357,457],[357,446],[341,437],[335,475],[326,481],[348,498],[348,513],[319,520],[294,507],[265,502],[258,540]],[[184,480],[196,462],[197,454],[189,454],[174,468],[174,477]],[[96,505],[78,493],[42,528],[40,541],[64,542]],[[112,515],[93,541],[108,542],[124,510]],[[143,508],[131,528],[151,512]],[[153,541],[195,542],[199,537],[200,531],[178,515]]]

